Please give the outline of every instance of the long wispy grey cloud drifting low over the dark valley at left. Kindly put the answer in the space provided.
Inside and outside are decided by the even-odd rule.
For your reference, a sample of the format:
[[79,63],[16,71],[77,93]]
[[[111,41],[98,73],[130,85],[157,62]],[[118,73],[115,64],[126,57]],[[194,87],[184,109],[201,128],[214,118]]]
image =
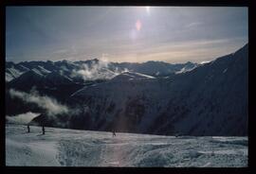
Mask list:
[[58,103],[56,99],[49,96],[39,96],[35,90],[31,90],[30,94],[27,94],[25,92],[10,89],[9,95],[11,97],[18,97],[27,103],[36,104],[38,107],[46,110],[48,115],[70,112],[66,106]]

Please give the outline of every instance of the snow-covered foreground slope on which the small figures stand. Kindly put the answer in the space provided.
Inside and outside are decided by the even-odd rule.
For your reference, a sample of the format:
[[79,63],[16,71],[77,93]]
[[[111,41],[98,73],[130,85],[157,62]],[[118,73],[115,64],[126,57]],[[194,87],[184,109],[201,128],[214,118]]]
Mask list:
[[6,125],[6,165],[247,166],[247,137],[158,136]]

